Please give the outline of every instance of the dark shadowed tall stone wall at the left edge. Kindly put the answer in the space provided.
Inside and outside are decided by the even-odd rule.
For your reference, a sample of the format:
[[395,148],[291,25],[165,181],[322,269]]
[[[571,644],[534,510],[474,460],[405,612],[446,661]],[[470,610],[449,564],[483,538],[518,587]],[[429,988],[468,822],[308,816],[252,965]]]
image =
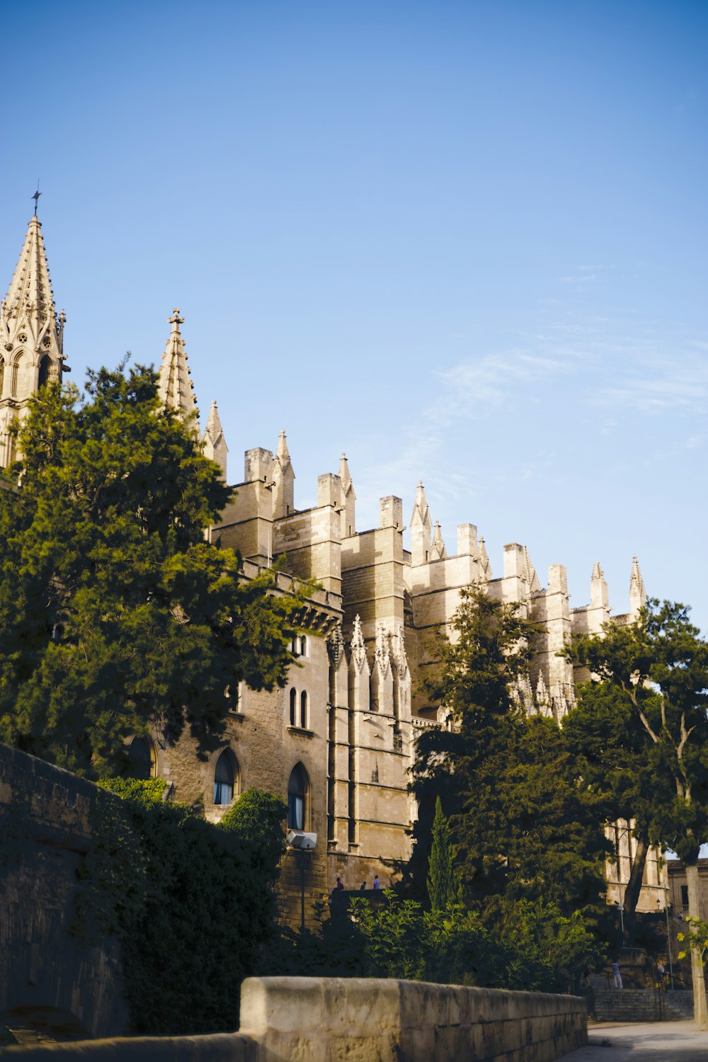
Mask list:
[[0,1013],[56,1008],[109,1035],[126,1022],[118,944],[69,931],[96,792],[0,744]]

